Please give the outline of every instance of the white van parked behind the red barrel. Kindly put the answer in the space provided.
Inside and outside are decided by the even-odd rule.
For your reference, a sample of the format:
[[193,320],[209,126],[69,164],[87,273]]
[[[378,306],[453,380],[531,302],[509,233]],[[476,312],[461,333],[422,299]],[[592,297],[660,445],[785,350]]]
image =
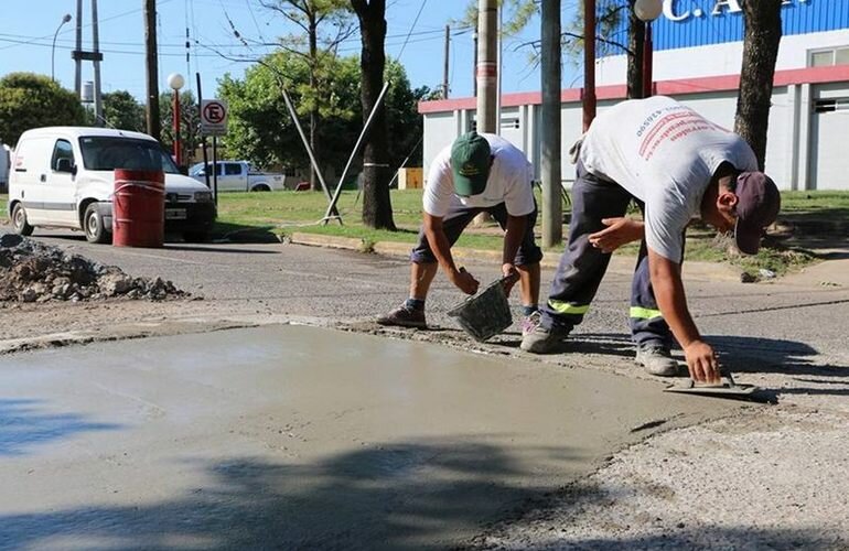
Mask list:
[[9,176],[9,217],[18,234],[35,227],[82,229],[109,242],[115,169],[165,173],[165,231],[187,241],[208,238],[216,210],[212,192],[180,174],[148,134],[86,127],[50,127],[21,134]]

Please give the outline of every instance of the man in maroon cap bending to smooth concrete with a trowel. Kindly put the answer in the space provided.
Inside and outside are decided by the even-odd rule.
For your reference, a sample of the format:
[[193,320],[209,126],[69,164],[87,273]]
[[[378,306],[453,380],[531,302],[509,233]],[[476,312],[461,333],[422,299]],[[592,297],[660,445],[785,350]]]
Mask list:
[[[610,253],[642,240],[631,293],[636,361],[657,376],[678,375],[669,348],[680,344],[694,380],[719,381],[681,282],[684,234],[694,217],[734,231],[738,248],[757,252],[781,195],[759,171],[749,144],[668,97],[628,100],[603,111],[576,144],[569,241],[541,320],[522,349],[550,353],[587,314]],[[636,199],[643,220],[625,218]]]

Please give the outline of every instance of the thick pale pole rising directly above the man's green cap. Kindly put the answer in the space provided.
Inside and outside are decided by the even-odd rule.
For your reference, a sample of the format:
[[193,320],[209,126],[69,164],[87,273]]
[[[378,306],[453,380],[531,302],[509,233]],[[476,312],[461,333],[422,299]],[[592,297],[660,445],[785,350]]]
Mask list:
[[498,0],[477,4],[477,131],[496,131]]

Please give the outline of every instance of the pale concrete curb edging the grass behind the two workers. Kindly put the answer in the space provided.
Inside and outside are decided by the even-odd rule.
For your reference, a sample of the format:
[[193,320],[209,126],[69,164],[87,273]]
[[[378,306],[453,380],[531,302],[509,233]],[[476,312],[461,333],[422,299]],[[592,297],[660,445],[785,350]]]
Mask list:
[[[293,245],[304,245],[309,247],[325,247],[332,249],[356,250],[359,252],[375,252],[386,257],[409,258],[412,244],[378,241],[367,245],[363,239],[353,237],[324,236],[318,234],[303,234],[295,231],[292,234],[289,242]],[[479,250],[466,247],[453,247],[451,255],[456,260],[481,261],[481,262],[501,262],[501,252],[494,250]],[[560,262],[560,253],[547,252],[539,262],[540,267],[554,270]],[[631,276],[634,273],[636,257],[613,255],[608,268],[608,273],[620,276]],[[740,283],[742,270],[728,264],[716,262],[685,262],[684,274],[688,280],[705,281],[730,281]]]

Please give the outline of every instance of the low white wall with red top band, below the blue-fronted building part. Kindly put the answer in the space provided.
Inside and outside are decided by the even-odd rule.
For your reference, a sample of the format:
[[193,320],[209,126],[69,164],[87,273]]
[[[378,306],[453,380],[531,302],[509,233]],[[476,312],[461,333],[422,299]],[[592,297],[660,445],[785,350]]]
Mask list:
[[[739,77],[670,80],[657,91],[671,96],[706,118],[733,129]],[[694,93],[694,89],[699,91]],[[707,91],[702,91],[707,90]],[[568,151],[582,132],[580,90],[563,90],[560,111],[562,179],[574,179]],[[599,89],[597,111],[624,99],[624,87]],[[505,96],[502,134],[534,164],[539,177],[540,95]],[[424,174],[431,159],[461,133],[474,128],[474,98],[422,104]],[[818,112],[821,111],[821,112]],[[849,188],[849,155],[845,143],[849,123],[849,66],[776,74],[770,110],[765,170],[782,190]],[[427,182],[426,182],[427,183]]]

